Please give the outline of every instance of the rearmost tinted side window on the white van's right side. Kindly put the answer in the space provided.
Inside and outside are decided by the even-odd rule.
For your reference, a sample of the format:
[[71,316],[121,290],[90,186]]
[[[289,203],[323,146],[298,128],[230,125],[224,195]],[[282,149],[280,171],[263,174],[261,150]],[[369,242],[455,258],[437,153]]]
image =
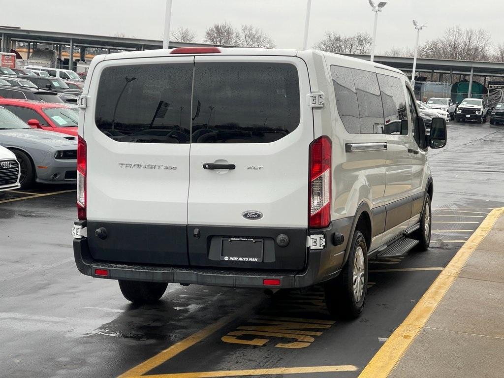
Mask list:
[[341,121],[348,133],[359,134],[359,104],[352,71],[346,67],[331,66],[331,77]]

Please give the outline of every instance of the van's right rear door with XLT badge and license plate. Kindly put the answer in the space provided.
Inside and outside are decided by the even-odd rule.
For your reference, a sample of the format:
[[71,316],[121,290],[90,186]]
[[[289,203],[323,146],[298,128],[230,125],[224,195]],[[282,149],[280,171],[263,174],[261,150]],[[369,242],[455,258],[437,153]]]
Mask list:
[[[187,204],[191,265],[304,266],[313,141],[308,93],[300,58],[196,56]],[[288,246],[278,245],[281,234]]]

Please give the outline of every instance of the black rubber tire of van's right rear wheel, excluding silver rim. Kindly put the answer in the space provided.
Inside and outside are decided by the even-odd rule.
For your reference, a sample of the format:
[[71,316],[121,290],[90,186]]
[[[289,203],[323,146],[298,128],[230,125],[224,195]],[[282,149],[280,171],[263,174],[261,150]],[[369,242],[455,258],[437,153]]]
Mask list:
[[[363,273],[357,270],[356,284],[359,285],[360,298],[354,294],[354,265],[356,264],[356,253],[360,249],[358,255],[362,257],[360,263],[363,268]],[[359,273],[360,271],[360,273]],[[351,320],[358,318],[364,307],[364,301],[367,292],[367,246],[362,232],[356,230],[350,247],[348,261],[343,267],[339,276],[327,281],[324,284],[324,296],[326,306],[332,316],[338,319]],[[362,277],[363,276],[363,277]]]

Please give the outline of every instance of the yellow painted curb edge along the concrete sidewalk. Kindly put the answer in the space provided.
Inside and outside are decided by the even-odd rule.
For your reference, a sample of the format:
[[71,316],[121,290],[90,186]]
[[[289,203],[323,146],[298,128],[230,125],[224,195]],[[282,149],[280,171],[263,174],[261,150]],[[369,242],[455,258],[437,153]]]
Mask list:
[[502,214],[504,214],[504,208],[494,209],[488,214],[478,229],[458,250],[447,267],[430,285],[404,322],[397,327],[387,342],[369,361],[359,374],[359,378],[385,378],[389,376],[422,327],[425,326],[436,306],[450,289],[474,250]]

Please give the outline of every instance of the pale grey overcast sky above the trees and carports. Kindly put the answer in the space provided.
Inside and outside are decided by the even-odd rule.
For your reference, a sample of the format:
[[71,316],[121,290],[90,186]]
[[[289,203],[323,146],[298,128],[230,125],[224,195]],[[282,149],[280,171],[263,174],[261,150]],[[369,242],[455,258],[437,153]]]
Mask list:
[[[95,35],[124,33],[147,39],[161,39],[163,33],[165,0],[23,0],[22,6],[19,2],[1,1],[0,25]],[[305,10],[305,0],[173,0],[171,25],[172,30],[192,28],[203,41],[205,29],[215,22],[253,24],[267,32],[277,47],[299,48]],[[501,43],[504,35],[497,15],[503,13],[501,0],[390,0],[379,15],[376,52],[414,47],[413,18],[428,22],[420,42],[458,25],[486,28],[493,42]],[[308,45],[322,39],[325,31],[371,34],[372,26],[367,0],[312,0]]]

